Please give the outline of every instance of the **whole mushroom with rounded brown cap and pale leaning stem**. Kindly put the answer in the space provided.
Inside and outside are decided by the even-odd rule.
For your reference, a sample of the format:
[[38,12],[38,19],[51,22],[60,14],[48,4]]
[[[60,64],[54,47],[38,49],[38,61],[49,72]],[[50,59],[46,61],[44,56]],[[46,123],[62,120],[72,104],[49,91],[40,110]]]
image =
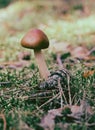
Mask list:
[[31,29],[21,40],[21,45],[25,48],[34,49],[34,55],[38,64],[41,78],[47,79],[50,72],[46,66],[41,49],[49,46],[49,40],[46,34],[40,29]]

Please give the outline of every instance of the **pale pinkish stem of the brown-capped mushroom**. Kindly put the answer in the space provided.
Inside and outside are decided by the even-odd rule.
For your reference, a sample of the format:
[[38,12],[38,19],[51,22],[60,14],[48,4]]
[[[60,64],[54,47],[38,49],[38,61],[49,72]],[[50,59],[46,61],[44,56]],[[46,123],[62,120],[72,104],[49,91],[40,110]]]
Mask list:
[[45,59],[41,50],[34,50],[34,55],[36,58],[36,62],[38,64],[40,75],[43,79],[46,80],[48,76],[50,75],[50,72],[47,68],[47,65],[46,65],[46,62],[45,62]]

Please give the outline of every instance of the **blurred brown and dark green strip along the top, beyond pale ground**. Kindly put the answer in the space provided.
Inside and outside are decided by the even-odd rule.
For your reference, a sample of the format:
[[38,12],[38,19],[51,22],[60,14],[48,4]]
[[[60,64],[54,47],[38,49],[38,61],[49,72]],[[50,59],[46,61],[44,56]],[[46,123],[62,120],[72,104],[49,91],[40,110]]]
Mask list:
[[[34,1],[34,0],[0,0],[0,8],[4,8],[13,2],[23,1]],[[58,9],[57,11],[65,13],[68,9],[80,9],[87,11],[87,8],[92,10],[95,9],[95,0],[35,0],[38,2],[44,2],[44,4],[51,3],[53,8]],[[46,3],[45,3],[46,2]]]

